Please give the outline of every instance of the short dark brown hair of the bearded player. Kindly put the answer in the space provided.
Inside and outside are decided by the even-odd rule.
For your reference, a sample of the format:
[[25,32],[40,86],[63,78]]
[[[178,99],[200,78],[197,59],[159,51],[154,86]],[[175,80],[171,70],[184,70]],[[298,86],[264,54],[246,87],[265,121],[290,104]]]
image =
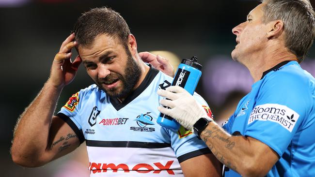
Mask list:
[[130,29],[119,13],[107,7],[100,7],[83,13],[75,23],[73,32],[78,45],[92,44],[97,35],[108,34],[118,37],[121,44],[127,47]]

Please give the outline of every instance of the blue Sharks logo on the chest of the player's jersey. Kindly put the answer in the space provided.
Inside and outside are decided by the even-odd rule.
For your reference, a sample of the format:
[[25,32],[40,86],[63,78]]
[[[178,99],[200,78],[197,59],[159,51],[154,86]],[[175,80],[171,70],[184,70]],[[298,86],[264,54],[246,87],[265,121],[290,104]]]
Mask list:
[[130,130],[140,131],[140,132],[154,132],[155,128],[146,127],[147,125],[154,125],[152,122],[152,117],[149,115],[151,112],[147,112],[146,114],[141,114],[137,116],[136,120],[139,127],[130,127]]

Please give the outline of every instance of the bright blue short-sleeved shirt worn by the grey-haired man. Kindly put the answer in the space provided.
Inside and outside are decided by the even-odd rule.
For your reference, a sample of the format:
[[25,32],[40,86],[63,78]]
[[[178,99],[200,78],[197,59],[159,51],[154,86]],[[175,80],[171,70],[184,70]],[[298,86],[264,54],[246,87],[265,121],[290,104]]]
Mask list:
[[[223,128],[251,136],[278,154],[267,177],[315,177],[314,77],[296,61],[278,64],[252,85]],[[227,167],[224,173],[239,177]]]

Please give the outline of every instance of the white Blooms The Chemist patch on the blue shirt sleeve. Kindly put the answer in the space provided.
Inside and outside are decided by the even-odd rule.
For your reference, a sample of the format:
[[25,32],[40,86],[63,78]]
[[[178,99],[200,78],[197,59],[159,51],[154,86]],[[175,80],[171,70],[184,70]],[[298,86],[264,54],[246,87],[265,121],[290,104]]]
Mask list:
[[251,124],[255,120],[272,121],[292,132],[298,119],[299,114],[285,105],[262,104],[254,107],[248,119],[248,124]]

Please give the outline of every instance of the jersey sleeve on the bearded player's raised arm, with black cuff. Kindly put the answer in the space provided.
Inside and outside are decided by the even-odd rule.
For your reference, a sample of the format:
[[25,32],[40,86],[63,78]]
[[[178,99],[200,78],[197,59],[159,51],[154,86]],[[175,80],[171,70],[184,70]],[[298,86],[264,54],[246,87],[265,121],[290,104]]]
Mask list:
[[72,130],[78,136],[80,143],[83,143],[85,140],[80,123],[80,107],[83,94],[83,90],[73,94],[56,115],[59,118],[62,118],[72,128]]

